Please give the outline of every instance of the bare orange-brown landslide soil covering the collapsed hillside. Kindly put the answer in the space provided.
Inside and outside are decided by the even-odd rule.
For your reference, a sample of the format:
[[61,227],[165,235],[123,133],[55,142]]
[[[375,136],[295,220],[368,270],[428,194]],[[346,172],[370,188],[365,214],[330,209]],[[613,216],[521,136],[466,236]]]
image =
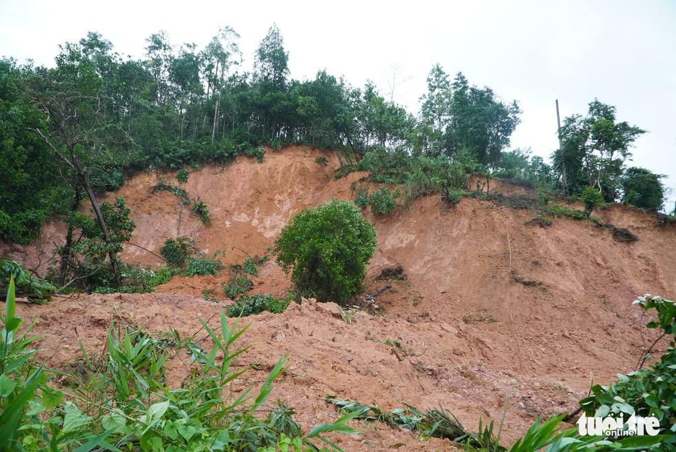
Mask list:
[[[328,166],[317,157],[326,157]],[[205,253],[226,250],[223,261],[234,264],[246,257],[242,251],[266,255],[281,228],[304,208],[332,197],[353,199],[366,174],[333,180],[338,168],[334,153],[290,146],[268,149],[263,163],[239,157],[229,166],[191,171],[183,188],[208,206],[212,226],[174,195],[152,190],[160,179],[177,184],[175,173],[137,175],[108,199],[125,197],[137,224],[135,244],[158,253],[169,237],[192,234]],[[491,180],[490,191],[495,189],[507,201],[529,195]],[[401,266],[405,279],[381,291],[375,312],[352,313],[351,319],[335,304],[312,300],[279,315],[246,317],[242,322],[251,327],[243,345],[252,348],[241,364],[256,364],[246,381],[264,380],[264,370],[290,353],[291,367],[272,400],[283,400],[308,427],[332,419],[332,408],[319,400],[327,396],[385,409],[401,402],[419,409],[441,405],[470,431],[479,418],[499,423],[508,404],[504,444],[538,416],[574,410],[592,378],[607,384],[616,373],[633,371],[650,344],[653,335],[632,302],[644,293],[675,296],[676,234],[654,215],[628,206],[594,215],[639,237],[629,243],[591,222],[553,218],[550,226],[538,226],[530,222],[534,210],[517,204],[524,207],[474,198],[446,206],[436,195],[390,215],[364,209],[378,231],[364,295],[386,286],[388,280],[378,279],[384,268]],[[41,241],[5,246],[4,254],[36,268],[63,232],[58,222],[48,224]],[[157,266],[159,259],[143,248],[126,246],[124,259]],[[199,318],[215,326],[223,306],[201,294],[212,289],[224,298],[220,283],[228,277],[226,268],[216,277],[175,277],[158,293],[54,299],[48,306],[21,304],[18,311],[26,320],[39,317],[34,334],[50,334],[41,355],[54,353],[52,363],[74,362],[78,340],[92,353],[103,349],[112,320],[146,331],[174,328],[181,337],[199,333]],[[286,297],[290,283],[274,259],[254,279],[254,292]],[[187,370],[172,360],[179,384]],[[437,450],[444,444],[386,426],[355,425],[365,433],[334,438],[345,450],[397,444],[404,444],[399,450]]]

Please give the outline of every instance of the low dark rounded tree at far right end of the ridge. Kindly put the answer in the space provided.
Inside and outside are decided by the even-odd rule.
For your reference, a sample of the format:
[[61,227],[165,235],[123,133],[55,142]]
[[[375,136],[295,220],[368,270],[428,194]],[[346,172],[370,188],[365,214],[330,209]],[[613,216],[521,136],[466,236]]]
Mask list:
[[664,202],[664,175],[652,173],[646,168],[629,168],[622,176],[622,202],[651,212],[657,212]]

